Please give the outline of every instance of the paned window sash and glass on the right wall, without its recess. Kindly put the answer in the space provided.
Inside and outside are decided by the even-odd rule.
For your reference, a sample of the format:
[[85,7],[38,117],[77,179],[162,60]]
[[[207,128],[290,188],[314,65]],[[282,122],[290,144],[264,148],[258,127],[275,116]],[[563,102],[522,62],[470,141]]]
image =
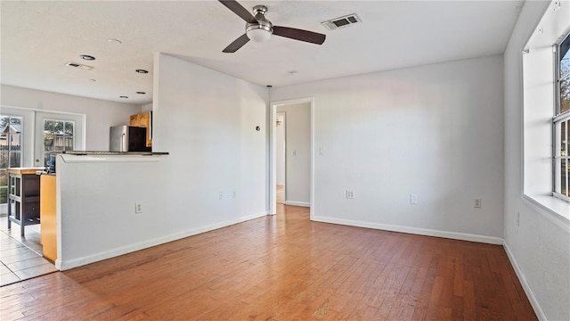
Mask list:
[[557,106],[554,128],[554,195],[570,201],[570,36],[558,45],[556,54]]

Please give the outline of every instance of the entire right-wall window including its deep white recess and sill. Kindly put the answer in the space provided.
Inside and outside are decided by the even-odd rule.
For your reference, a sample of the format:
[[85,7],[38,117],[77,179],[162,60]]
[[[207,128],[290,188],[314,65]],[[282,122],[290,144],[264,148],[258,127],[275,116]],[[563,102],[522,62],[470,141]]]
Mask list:
[[[568,9],[570,2],[551,1],[521,48],[523,144],[520,147],[525,201],[570,220]],[[512,78],[516,78],[517,70],[509,70],[513,72]],[[512,91],[517,84],[509,86],[505,86],[505,91]],[[510,95],[509,99],[513,103],[517,98]]]

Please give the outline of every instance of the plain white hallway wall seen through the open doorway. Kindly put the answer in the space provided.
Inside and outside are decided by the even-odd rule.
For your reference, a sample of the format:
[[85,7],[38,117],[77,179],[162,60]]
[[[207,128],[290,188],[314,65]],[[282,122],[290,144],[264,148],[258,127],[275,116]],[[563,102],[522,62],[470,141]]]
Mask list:
[[[311,103],[277,107],[285,112],[285,204],[310,206],[311,202]],[[277,145],[279,148],[279,145]]]

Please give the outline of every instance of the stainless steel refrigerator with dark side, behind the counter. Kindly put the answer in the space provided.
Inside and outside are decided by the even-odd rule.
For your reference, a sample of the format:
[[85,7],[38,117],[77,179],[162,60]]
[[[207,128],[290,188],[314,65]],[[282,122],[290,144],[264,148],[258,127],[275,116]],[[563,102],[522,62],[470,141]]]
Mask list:
[[146,128],[114,126],[109,131],[110,152],[151,152],[146,146]]

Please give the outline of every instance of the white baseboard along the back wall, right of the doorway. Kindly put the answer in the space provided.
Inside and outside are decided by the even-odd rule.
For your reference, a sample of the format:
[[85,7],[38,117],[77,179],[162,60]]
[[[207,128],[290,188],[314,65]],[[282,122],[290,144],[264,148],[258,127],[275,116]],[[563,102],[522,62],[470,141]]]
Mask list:
[[498,244],[502,245],[503,239],[501,237],[494,237],[494,236],[487,236],[487,235],[471,235],[467,233],[458,233],[458,232],[448,232],[448,231],[439,231],[427,228],[419,228],[419,227],[411,227],[411,226],[395,226],[389,224],[379,224],[379,223],[371,223],[371,222],[360,222],[342,218],[326,218],[326,217],[313,217],[312,220],[317,222],[323,223],[333,223],[333,224],[340,224],[346,226],[358,226],[358,227],[366,227],[366,228],[374,228],[380,229],[385,231],[391,232],[402,232],[414,235],[427,235],[427,236],[436,236],[436,237],[444,237],[453,240],[461,240],[461,241],[470,241],[470,242],[478,242],[478,243],[489,243],[489,244]]

